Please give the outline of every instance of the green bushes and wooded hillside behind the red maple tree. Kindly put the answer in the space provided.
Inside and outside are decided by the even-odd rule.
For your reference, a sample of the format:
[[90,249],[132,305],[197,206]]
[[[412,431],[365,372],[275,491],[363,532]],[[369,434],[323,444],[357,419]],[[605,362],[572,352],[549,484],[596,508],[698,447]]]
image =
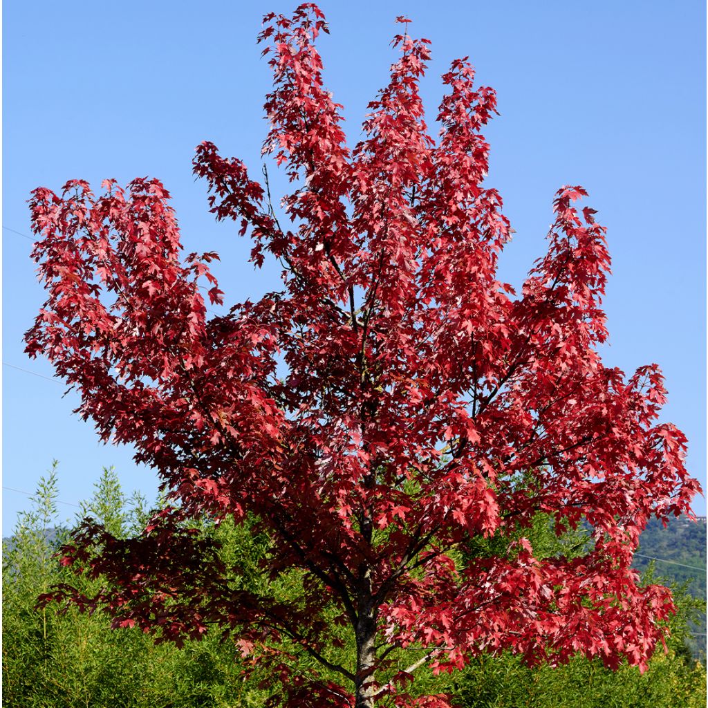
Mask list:
[[[105,469],[78,518],[91,515],[114,535],[128,536],[146,520],[146,503],[127,498],[112,469]],[[207,633],[182,649],[155,645],[139,629],[110,631],[100,612],[62,613],[50,605],[38,610],[36,598],[56,583],[77,582],[52,556],[72,522],[57,523],[57,471],[42,479],[28,511],[3,542],[3,705],[8,708],[243,708],[260,707],[271,695],[273,678],[258,668],[244,676],[244,663],[232,641]],[[253,588],[292,595],[297,579],[268,586],[258,571],[267,539],[224,524],[215,530],[224,554],[238,557],[244,582]],[[668,529],[651,523],[642,536],[643,556],[682,563],[663,564],[658,581],[673,583],[678,613],[671,623],[668,652],[657,651],[643,675],[634,667],[619,671],[576,657],[567,666],[530,669],[516,657],[483,656],[453,676],[421,675],[425,692],[452,692],[465,708],[702,708],[706,702],[704,667],[705,523],[677,520]],[[581,532],[556,539],[539,517],[527,532],[540,554],[580,552]],[[493,542],[493,541],[492,541]],[[482,542],[479,543],[489,543]],[[479,549],[480,551],[483,549]],[[474,543],[469,547],[474,553]],[[652,561],[637,557],[646,581],[656,582]],[[657,566],[660,565],[657,563]],[[88,581],[86,590],[91,590]],[[692,624],[698,620],[699,624]],[[702,624],[700,624],[702,622]],[[703,633],[703,634],[701,634]],[[702,658],[702,661],[697,661]]]

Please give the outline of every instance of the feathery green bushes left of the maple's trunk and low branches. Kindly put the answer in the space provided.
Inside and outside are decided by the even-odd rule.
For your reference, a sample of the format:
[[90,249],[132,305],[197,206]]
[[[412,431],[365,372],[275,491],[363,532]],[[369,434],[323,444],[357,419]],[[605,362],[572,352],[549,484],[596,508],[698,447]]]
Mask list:
[[[19,515],[3,553],[3,705],[7,708],[195,708],[261,705],[261,692],[244,683],[236,648],[218,637],[182,650],[155,646],[138,629],[110,631],[96,612],[65,614],[56,605],[35,609],[56,583],[79,583],[52,557],[63,534],[55,532],[56,465],[40,481],[30,511]],[[123,495],[113,469],[105,469],[93,497],[81,505],[117,535],[145,520],[144,501]],[[84,583],[81,585],[81,583]]]

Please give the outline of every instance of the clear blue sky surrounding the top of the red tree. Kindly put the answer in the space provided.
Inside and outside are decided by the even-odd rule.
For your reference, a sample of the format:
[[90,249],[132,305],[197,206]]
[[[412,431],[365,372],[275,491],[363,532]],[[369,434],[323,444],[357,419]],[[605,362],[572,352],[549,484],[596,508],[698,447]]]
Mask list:
[[[59,459],[59,498],[91,493],[101,467],[127,491],[156,490],[130,450],[98,443],[72,416],[46,362],[23,354],[22,333],[43,300],[28,258],[25,200],[68,178],[98,186],[156,176],[173,195],[187,251],[216,250],[227,303],[277,286],[278,270],[253,271],[249,244],[208,214],[190,163],[205,139],[260,170],[261,105],[270,87],[255,38],[282,1],[4,4],[3,485],[33,491]],[[326,83],[346,106],[350,142],[367,102],[386,81],[394,18],[433,41],[423,81],[429,116],[439,76],[469,55],[478,80],[498,91],[489,185],[516,229],[501,276],[518,285],[544,251],[554,192],[590,192],[607,226],[613,275],[605,300],[609,365],[658,362],[670,402],[664,418],[690,440],[688,464],[705,486],[705,6],[595,0],[357,3],[323,0],[331,35],[320,42]],[[13,229],[13,230],[10,230]],[[19,232],[19,234],[15,233]],[[11,365],[11,366],[8,366]],[[3,533],[26,508],[3,493]],[[704,498],[695,502],[705,513]],[[62,516],[74,513],[60,506]]]

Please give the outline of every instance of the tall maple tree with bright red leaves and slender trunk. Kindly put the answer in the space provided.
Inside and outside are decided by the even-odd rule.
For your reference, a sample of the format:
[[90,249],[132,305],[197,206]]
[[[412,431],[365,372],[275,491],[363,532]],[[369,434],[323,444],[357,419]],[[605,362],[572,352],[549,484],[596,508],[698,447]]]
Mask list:
[[[274,76],[263,153],[296,185],[289,222],[267,172],[253,181],[209,142],[194,161],[217,219],[250,233],[253,263],[280,261],[282,291],[207,316],[199,284],[222,302],[217,256],[182,258],[159,181],[33,192],[49,296],[27,351],[80,392],[104,440],[135,445],[171,500],[135,539],[86,520],[64,563],[105,586],[52,598],[174,641],[217,625],[244,652],[267,649],[292,705],[447,705],[411,697],[416,666],[504,649],[646,666],[673,605],[639,586],[632,553],[651,515],[690,514],[699,487],[684,435],[658,423],[658,367],[626,377],[600,359],[605,228],[573,206],[581,187],[561,188],[547,255],[515,293],[496,278],[509,222],[483,186],[493,90],[452,62],[431,138],[418,93],[429,42],[396,35],[400,58],[350,150],[322,85],[322,31],[305,4],[266,16],[259,38]],[[539,513],[559,534],[588,525],[591,549],[537,558],[523,529]],[[267,571],[299,569],[302,602],[239,586],[190,527],[204,517],[255,519],[273,539]],[[515,540],[466,553],[479,537]],[[341,662],[326,607],[355,639]],[[410,646],[426,653],[392,673],[392,651]],[[292,673],[298,651],[341,680]]]

